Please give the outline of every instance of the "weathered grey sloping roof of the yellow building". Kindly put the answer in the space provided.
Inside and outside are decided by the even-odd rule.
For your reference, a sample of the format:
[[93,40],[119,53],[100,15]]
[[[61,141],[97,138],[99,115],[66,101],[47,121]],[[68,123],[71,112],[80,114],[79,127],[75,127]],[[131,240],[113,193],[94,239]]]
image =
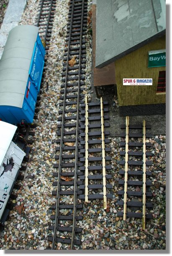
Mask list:
[[165,0],[99,0],[96,68],[165,34]]

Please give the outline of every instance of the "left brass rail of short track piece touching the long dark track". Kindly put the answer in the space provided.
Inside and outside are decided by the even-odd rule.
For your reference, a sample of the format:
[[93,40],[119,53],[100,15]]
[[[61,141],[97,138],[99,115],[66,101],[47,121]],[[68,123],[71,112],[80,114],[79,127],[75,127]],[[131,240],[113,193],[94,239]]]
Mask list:
[[88,96],[85,97],[85,202],[88,202]]

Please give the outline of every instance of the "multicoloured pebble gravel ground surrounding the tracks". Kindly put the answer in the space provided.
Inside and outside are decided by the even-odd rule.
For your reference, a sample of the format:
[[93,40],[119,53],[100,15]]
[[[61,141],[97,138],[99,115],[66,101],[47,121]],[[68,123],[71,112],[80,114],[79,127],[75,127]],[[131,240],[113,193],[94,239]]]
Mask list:
[[[28,0],[28,5],[23,13],[21,24],[36,23],[38,15],[39,1]],[[16,203],[21,207],[22,212],[17,209],[10,211],[10,217],[5,223],[5,229],[0,232],[0,249],[39,249],[44,250],[49,246],[47,236],[51,235],[48,229],[50,215],[52,214],[50,205],[55,203],[55,197],[51,195],[54,190],[51,172],[54,172],[54,160],[57,131],[57,118],[59,117],[60,85],[62,84],[62,57],[65,47],[66,24],[68,17],[68,1],[57,1],[51,43],[49,48],[46,71],[44,73],[44,84],[41,94],[41,105],[37,124],[35,128],[35,141],[31,145],[31,161],[28,163],[26,179],[21,184],[18,191]],[[92,1],[88,0],[88,10]],[[34,7],[34,8],[33,8]],[[91,60],[92,49],[90,29],[86,34],[86,91],[91,98]],[[48,82],[48,90],[47,84]],[[110,138],[112,157],[111,165],[113,169],[107,171],[112,174],[113,179],[108,183],[113,185],[110,193],[113,199],[107,201],[108,207],[103,209],[103,200],[92,200],[84,203],[84,209],[78,214],[83,215],[83,221],[77,222],[78,227],[82,227],[82,234],[78,234],[82,239],[82,246],[76,249],[98,250],[98,249],[165,249],[165,136],[157,135],[150,139],[152,142],[152,181],[151,191],[153,197],[149,199],[153,203],[153,219],[146,222],[146,230],[142,230],[141,219],[127,219],[117,217],[120,207],[116,204],[119,199],[118,180],[122,178],[118,174],[120,169],[120,147],[119,142],[123,138]],[[132,189],[132,188],[131,188]],[[16,192],[16,191],[15,191]],[[64,202],[68,202],[68,196]],[[72,202],[71,202],[72,203]],[[128,210],[129,211],[129,210]],[[52,224],[52,222],[51,222]],[[67,249],[68,246],[59,243],[58,249]]]

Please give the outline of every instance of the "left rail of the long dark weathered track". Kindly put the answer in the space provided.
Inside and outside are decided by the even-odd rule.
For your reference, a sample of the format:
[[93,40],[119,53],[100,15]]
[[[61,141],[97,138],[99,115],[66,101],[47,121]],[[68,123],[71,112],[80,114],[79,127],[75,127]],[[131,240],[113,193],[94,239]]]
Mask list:
[[64,118],[65,118],[65,109],[66,109],[66,95],[67,95],[67,76],[68,76],[68,68],[69,68],[69,52],[70,52],[70,39],[72,33],[72,18],[73,18],[73,11],[74,11],[74,1],[72,2],[72,14],[70,20],[70,29],[69,29],[69,42],[67,48],[67,65],[66,65],[66,76],[65,76],[65,87],[64,87],[64,102],[63,102],[63,114],[62,114],[62,130],[61,130],[61,141],[60,141],[60,152],[59,152],[59,171],[58,171],[58,182],[57,182],[57,194],[56,194],[56,215],[55,215],[55,224],[54,224],[54,236],[52,241],[52,250],[55,248],[56,242],[56,232],[57,232],[57,225],[59,221],[59,192],[60,192],[60,178],[62,172],[62,152],[63,152],[63,138],[64,138]]

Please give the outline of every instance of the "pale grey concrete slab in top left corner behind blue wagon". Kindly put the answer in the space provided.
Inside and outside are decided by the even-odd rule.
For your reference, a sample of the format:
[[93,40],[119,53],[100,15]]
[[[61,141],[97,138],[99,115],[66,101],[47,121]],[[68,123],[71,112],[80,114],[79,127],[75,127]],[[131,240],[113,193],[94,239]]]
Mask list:
[[18,26],[21,21],[23,11],[26,7],[27,0],[9,0],[8,7],[0,27],[0,58],[3,54],[3,47],[7,41],[11,29]]

